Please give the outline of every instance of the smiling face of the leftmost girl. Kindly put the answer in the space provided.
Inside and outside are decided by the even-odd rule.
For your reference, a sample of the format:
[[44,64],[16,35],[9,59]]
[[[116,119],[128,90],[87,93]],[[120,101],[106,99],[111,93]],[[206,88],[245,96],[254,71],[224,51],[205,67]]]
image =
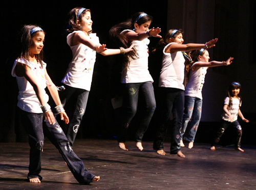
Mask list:
[[32,37],[32,45],[29,47],[30,56],[34,57],[35,54],[39,54],[44,47],[45,33],[37,32]]

